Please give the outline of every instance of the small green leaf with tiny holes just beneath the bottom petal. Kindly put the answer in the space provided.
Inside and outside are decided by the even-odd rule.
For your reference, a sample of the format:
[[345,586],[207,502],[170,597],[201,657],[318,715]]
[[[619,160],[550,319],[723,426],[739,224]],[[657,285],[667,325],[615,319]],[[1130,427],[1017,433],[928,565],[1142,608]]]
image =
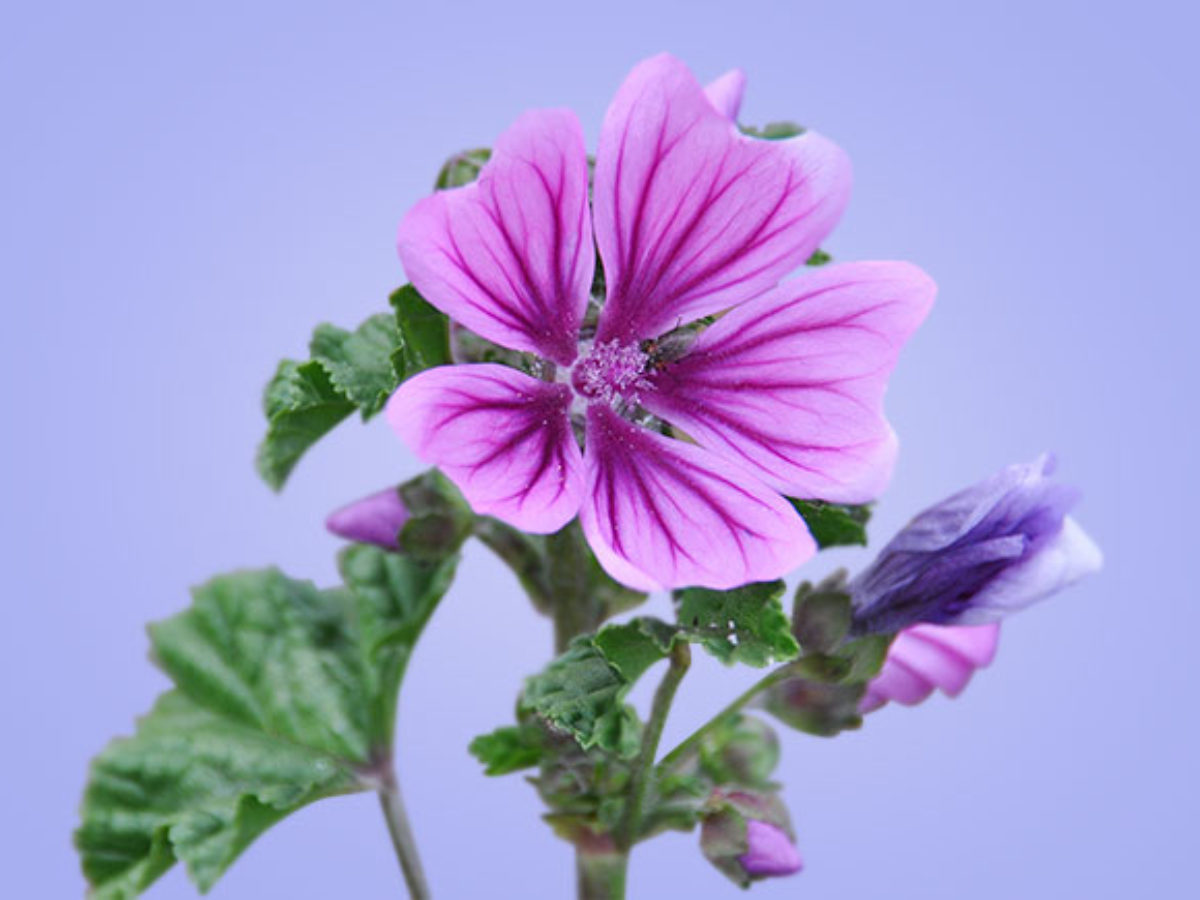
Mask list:
[[676,616],[689,637],[726,664],[766,666],[800,650],[780,604],[784,582],[733,590],[685,588],[674,593]]

